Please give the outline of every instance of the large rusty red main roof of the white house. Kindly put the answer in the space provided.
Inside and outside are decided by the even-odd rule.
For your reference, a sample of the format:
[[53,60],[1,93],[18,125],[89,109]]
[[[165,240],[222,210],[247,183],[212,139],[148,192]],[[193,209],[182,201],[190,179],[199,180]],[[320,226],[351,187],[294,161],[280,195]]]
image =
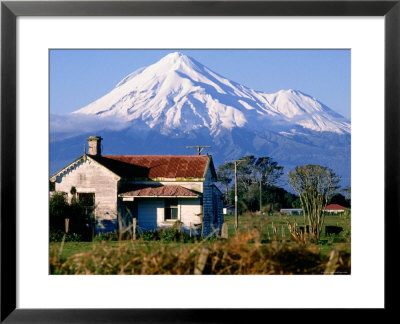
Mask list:
[[123,178],[204,178],[207,166],[215,176],[209,155],[90,156]]

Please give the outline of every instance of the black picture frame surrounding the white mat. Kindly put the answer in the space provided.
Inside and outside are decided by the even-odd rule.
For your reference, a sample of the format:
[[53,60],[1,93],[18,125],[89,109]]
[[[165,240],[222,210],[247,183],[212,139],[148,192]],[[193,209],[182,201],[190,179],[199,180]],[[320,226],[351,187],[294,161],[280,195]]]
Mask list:
[[[245,309],[16,308],[16,19],[19,16],[384,16],[385,310],[397,306],[399,237],[400,0],[393,1],[2,1],[1,2],[1,322],[198,323],[264,316]],[[371,153],[373,154],[373,153]],[[368,157],[366,157],[368,163]],[[373,168],[373,166],[371,166]],[[373,190],[373,188],[371,188]],[[367,283],[366,283],[367,284]],[[132,305],[134,307],[134,305]],[[339,319],[338,319],[339,320]]]

